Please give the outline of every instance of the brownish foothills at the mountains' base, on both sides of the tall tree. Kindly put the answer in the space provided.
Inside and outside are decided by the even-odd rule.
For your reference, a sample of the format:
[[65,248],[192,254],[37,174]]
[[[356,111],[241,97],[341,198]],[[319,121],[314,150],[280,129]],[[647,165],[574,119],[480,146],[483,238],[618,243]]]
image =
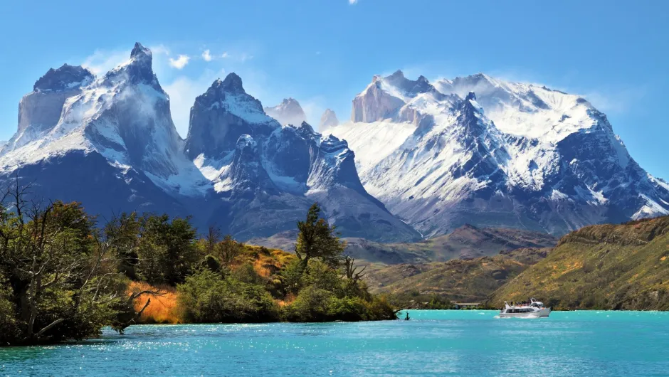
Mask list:
[[[297,233],[283,232],[269,238],[253,238],[247,243],[268,248],[293,250]],[[500,250],[547,248],[557,238],[547,233],[511,228],[476,228],[463,225],[453,233],[417,243],[376,243],[363,238],[345,238],[346,253],[359,262],[395,265],[399,263],[446,262],[447,260],[491,256]]]

